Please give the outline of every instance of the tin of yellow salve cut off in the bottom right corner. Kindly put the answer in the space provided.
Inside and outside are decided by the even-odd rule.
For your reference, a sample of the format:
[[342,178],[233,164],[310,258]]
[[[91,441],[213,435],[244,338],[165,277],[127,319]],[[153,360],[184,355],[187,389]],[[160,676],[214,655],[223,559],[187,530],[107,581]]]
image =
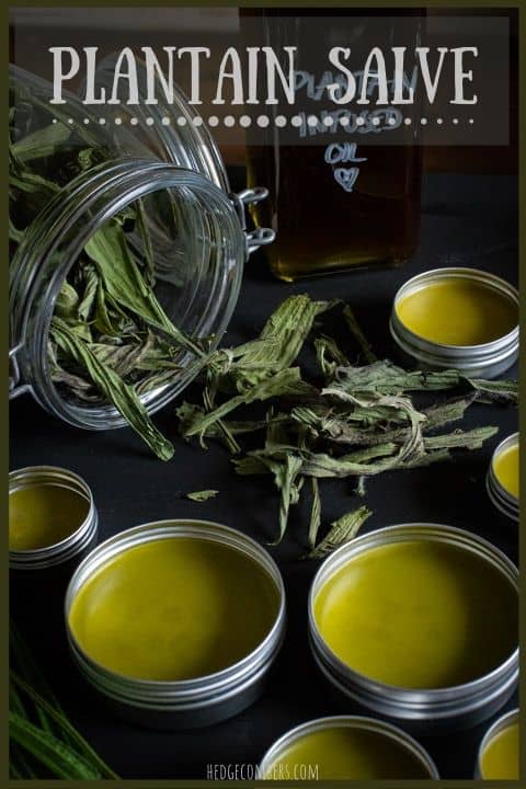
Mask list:
[[476,778],[518,780],[518,709],[499,718],[488,730],[479,748]]

